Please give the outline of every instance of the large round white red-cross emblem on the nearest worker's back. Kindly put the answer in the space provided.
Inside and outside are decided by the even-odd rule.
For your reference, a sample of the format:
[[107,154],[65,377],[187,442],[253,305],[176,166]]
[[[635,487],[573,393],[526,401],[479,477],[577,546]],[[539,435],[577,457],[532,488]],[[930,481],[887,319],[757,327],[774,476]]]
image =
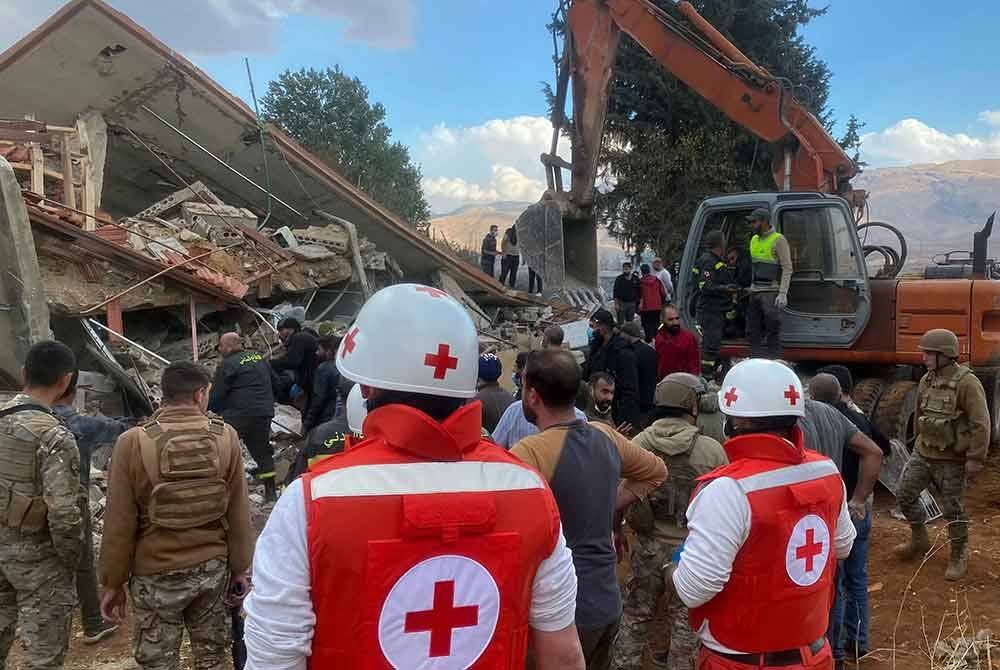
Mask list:
[[395,668],[471,667],[493,641],[500,591],[481,563],[435,556],[390,589],[378,622],[382,653]]

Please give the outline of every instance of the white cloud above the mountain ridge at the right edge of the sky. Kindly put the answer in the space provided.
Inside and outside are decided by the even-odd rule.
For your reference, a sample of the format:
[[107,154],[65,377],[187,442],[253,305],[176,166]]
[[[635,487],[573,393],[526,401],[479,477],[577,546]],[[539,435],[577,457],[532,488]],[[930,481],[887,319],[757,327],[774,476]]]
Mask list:
[[979,118],[996,123],[997,130],[983,136],[948,134],[917,119],[903,119],[881,132],[865,133],[862,157],[875,166],[1000,158],[1000,112],[983,112]]

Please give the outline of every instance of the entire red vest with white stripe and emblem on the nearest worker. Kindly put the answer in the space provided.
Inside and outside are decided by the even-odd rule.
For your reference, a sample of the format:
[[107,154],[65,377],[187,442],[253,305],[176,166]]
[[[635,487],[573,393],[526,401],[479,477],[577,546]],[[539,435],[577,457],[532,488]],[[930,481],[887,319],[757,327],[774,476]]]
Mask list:
[[523,665],[559,512],[541,475],[480,426],[479,402],[441,423],[388,405],[363,442],[303,475],[310,668]]

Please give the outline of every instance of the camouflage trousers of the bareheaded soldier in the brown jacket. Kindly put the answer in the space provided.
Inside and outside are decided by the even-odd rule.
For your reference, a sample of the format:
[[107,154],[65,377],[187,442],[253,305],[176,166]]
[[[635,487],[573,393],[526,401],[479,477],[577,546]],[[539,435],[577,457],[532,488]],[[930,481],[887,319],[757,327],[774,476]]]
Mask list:
[[134,576],[135,661],[143,670],[177,670],[184,629],[191,639],[195,670],[221,670],[229,655],[229,584],[226,561],[158,575]]

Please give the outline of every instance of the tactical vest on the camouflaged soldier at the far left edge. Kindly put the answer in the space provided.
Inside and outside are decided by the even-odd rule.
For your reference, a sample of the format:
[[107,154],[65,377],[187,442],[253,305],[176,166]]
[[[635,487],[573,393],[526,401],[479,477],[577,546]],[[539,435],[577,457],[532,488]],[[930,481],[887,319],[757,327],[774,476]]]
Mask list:
[[[20,412],[42,412],[52,417],[52,428],[62,425],[41,405],[14,405],[0,410],[0,418]],[[42,439],[45,434],[42,434]],[[37,533],[48,526],[48,507],[38,477],[39,440],[0,434],[0,526]]]

